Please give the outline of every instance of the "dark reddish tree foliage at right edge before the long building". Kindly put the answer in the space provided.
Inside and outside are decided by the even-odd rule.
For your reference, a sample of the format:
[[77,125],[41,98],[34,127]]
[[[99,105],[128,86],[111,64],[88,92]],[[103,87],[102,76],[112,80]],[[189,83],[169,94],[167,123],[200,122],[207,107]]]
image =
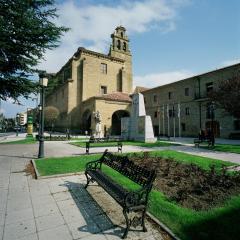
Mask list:
[[209,97],[217,105],[240,119],[240,74],[221,81]]

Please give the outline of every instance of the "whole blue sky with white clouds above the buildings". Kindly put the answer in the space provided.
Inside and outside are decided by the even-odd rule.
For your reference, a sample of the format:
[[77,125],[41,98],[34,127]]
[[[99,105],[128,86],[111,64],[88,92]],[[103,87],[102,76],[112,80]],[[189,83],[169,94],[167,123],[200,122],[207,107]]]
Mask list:
[[[57,8],[56,23],[71,31],[39,64],[50,72],[79,46],[107,53],[120,23],[131,41],[135,86],[155,87],[240,62],[238,0],[61,0]],[[14,116],[36,105],[22,103],[2,102],[1,111]]]

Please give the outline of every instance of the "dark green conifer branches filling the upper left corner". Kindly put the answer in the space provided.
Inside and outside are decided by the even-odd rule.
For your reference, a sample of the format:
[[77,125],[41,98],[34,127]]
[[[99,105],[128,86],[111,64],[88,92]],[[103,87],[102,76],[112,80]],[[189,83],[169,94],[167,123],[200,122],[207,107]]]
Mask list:
[[0,0],[0,99],[17,101],[36,90],[29,76],[68,30],[52,22],[53,5],[54,0]]

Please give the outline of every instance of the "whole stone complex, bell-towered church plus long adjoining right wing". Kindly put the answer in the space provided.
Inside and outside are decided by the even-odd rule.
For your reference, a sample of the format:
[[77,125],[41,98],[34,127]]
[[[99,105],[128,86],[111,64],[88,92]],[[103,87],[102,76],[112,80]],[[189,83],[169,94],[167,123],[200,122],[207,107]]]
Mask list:
[[[107,55],[80,47],[59,72],[49,74],[46,106],[60,111],[56,130],[91,134],[98,111],[103,133],[120,135],[121,118],[131,112],[132,55],[124,27],[117,27],[111,38]],[[197,136],[213,125],[217,137],[240,138],[240,120],[222,109],[210,112],[214,106],[208,98],[221,80],[239,73],[240,64],[235,64],[152,89],[137,87],[135,92],[144,95],[156,136]]]

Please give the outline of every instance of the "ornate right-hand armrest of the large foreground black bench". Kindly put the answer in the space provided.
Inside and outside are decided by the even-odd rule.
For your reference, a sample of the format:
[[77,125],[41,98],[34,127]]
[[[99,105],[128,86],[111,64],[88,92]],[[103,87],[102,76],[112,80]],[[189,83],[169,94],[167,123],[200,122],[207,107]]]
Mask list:
[[124,204],[126,207],[146,205],[148,201],[148,194],[149,190],[146,188],[129,192],[124,198]]

